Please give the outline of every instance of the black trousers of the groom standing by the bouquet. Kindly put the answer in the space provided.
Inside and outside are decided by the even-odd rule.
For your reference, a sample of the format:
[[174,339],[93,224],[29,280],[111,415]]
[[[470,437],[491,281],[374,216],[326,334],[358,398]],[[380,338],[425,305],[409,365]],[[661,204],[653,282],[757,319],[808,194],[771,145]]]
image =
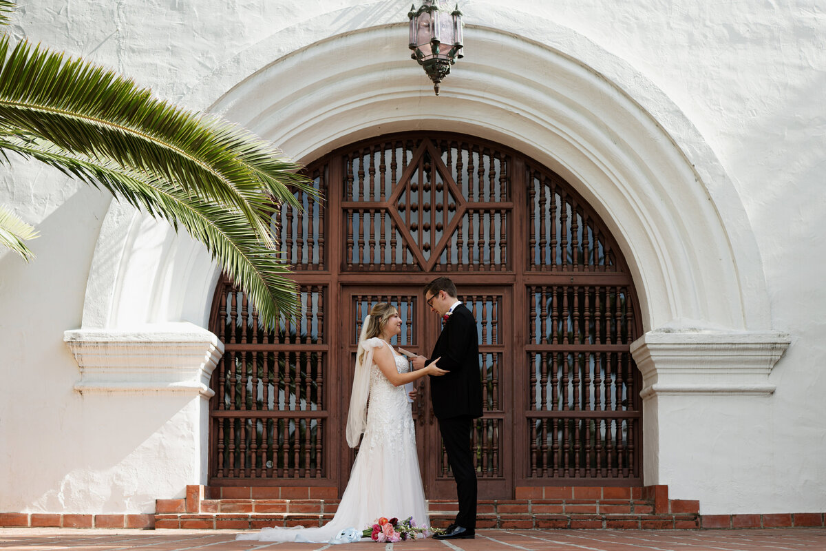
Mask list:
[[473,467],[473,450],[471,449],[471,416],[439,419],[439,432],[442,433],[444,450],[448,453],[448,463],[456,479],[459,512],[456,524],[468,530],[476,530],[476,468]]

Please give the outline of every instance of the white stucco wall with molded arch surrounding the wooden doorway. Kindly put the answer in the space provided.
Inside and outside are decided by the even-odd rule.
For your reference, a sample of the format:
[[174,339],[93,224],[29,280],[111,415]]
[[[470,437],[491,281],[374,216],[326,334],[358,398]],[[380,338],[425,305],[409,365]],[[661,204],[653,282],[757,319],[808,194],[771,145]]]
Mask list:
[[[684,256],[705,264],[696,267],[701,285],[713,283],[702,281],[702,273],[729,274],[742,295],[731,300],[743,302],[733,309],[742,311],[738,317],[725,305],[701,306],[703,297],[697,297],[700,306],[689,310],[700,312],[690,315],[699,319],[692,323],[784,331],[791,344],[768,376],[776,387],[770,396],[657,398],[662,420],[671,429],[663,430],[661,421],[656,482],[668,484],[672,497],[700,499],[704,514],[826,511],[826,344],[821,336],[826,292],[819,284],[826,268],[820,176],[826,158],[823,3],[635,0],[609,6],[601,0],[513,0],[507,9],[493,2],[461,3],[468,25],[466,57],[445,80],[439,98],[432,97],[429,81],[407,59],[405,29],[392,26],[406,20],[410,6],[404,2],[39,0],[21,2],[11,30],[18,38],[118,69],[160,97],[225,112],[304,160],[348,139],[404,127],[458,126],[523,147],[554,169],[564,169],[587,197],[605,201],[597,207],[609,215],[627,256],[637,262],[635,277],[650,280],[645,285],[650,287],[645,291],[650,297],[647,330],[670,322],[691,325],[668,319],[667,312],[682,312],[679,305],[662,305],[667,297],[690,290],[668,292],[664,287],[673,280],[651,275],[653,261],[674,251],[640,245],[642,235],[636,237],[619,207],[611,210],[611,187],[626,183],[633,193],[634,185],[649,178],[663,194],[650,210],[657,211],[657,201],[662,201],[662,210],[668,211],[667,182],[662,180],[691,174],[666,167],[678,165],[679,159],[663,156],[659,167],[652,159],[629,159],[619,149],[610,157],[605,154],[610,144],[600,145],[591,138],[596,131],[589,134],[584,126],[577,137],[587,143],[578,154],[563,149],[573,138],[565,142],[558,136],[563,128],[577,131],[577,120],[591,124],[592,116],[605,126],[616,125],[603,129],[605,135],[629,143],[629,150],[639,150],[643,157],[657,147],[671,150],[684,159],[686,170],[695,171],[699,183],[692,197],[707,194],[704,211],[719,217],[722,233],[714,239],[723,235],[728,241],[714,246],[723,253],[727,243],[734,249],[731,259],[720,257],[720,263],[729,263],[722,268],[699,251]],[[477,38],[475,45],[474,27],[477,36],[486,37]],[[398,55],[399,64],[365,67],[359,73],[360,63],[354,63],[349,74],[329,82],[322,80],[325,72],[316,78],[310,71],[296,76],[285,71],[296,60],[316,71],[348,66],[335,58],[335,51],[326,67],[314,55],[325,48],[318,45],[321,40],[348,33],[353,36],[347,40],[359,48],[374,45],[378,59]],[[366,37],[361,42],[358,33]],[[393,33],[397,43],[388,41]],[[496,58],[491,46],[496,36],[508,40],[511,50],[522,47],[512,35],[527,37],[526,55]],[[299,47],[306,50],[288,56]],[[491,57],[475,57],[481,54]],[[489,59],[496,65],[491,67]],[[559,69],[565,59],[582,66],[583,83],[602,79],[615,93],[604,92],[601,106],[596,92],[583,89],[581,105],[594,112],[581,117],[573,116],[574,107],[543,103],[537,92],[543,87],[560,105],[576,99],[571,81],[554,80],[574,74]],[[552,62],[556,73],[548,69]],[[506,96],[508,83],[519,76],[511,73],[517,69],[531,77],[520,77],[520,87],[512,90],[518,107],[487,101]],[[325,97],[335,113],[321,112],[311,96],[292,96],[294,87]],[[378,97],[390,88],[395,97]],[[480,96],[472,101],[471,88]],[[344,99],[327,99],[336,93]],[[377,96],[373,104],[372,93]],[[344,102],[350,97],[352,102]],[[629,113],[636,108],[650,118],[643,124],[633,116],[600,115],[601,107],[607,111],[615,105],[630,106]],[[552,116],[566,108],[570,120]],[[401,115],[393,118],[396,110]],[[539,124],[543,112],[549,118]],[[318,117],[325,124],[303,121]],[[486,130],[487,123],[499,127]],[[624,135],[637,124],[644,135]],[[509,127],[519,130],[509,135],[502,130]],[[339,142],[332,143],[334,136],[325,132],[335,133]],[[616,169],[614,179],[599,179],[610,169]],[[0,377],[11,397],[0,401],[0,511],[138,513],[152,511],[156,497],[183,496],[183,485],[202,476],[190,461],[199,454],[197,446],[181,438],[188,424],[197,425],[202,398],[154,397],[150,414],[140,415],[145,396],[82,396],[73,390],[80,374],[63,342],[64,330],[82,325],[126,330],[164,321],[204,325],[211,295],[199,302],[186,293],[211,288],[214,267],[188,240],[173,239],[169,230],[129,209],[115,205],[110,211],[106,194],[53,170],[16,163],[11,171],[0,169],[0,177],[0,202],[11,204],[43,234],[32,242],[38,258],[31,264],[0,253]],[[112,229],[102,232],[102,226]],[[672,228],[662,226],[663,233],[667,230]],[[676,228],[670,242],[705,230]],[[99,240],[99,235],[107,238]],[[118,244],[118,237],[134,238],[129,250],[135,254],[123,256],[128,247]],[[662,264],[667,273],[672,264]],[[199,280],[188,287],[169,283],[189,278]],[[758,306],[749,311],[753,304]],[[112,416],[113,411],[121,413]],[[116,445],[101,447],[104,423],[132,430]],[[194,428],[187,434],[193,433]],[[155,462],[166,441],[183,444],[170,448],[172,455],[163,463]],[[173,463],[190,467],[159,468]],[[159,481],[160,471],[167,474]]]

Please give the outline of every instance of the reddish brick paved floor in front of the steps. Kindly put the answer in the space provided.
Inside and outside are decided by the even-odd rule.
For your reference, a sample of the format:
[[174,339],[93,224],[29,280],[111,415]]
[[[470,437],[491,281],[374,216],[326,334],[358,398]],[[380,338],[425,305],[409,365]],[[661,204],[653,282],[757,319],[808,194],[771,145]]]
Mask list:
[[476,539],[398,544],[267,544],[235,541],[229,530],[0,529],[0,549],[52,551],[826,551],[826,528],[767,530],[480,530]]

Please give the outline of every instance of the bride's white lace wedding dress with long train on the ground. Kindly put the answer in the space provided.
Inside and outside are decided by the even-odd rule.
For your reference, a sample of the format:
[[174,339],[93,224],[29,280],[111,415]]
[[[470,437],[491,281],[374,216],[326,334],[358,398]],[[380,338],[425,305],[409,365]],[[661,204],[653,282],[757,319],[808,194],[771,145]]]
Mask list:
[[[390,346],[378,338],[365,344]],[[398,372],[406,373],[407,360],[395,352],[393,357]],[[346,528],[364,530],[382,516],[399,520],[412,516],[417,525],[430,526],[405,387],[394,387],[373,363],[369,397],[367,427],[333,520],[320,528],[264,528],[239,534],[237,539],[325,543]]]

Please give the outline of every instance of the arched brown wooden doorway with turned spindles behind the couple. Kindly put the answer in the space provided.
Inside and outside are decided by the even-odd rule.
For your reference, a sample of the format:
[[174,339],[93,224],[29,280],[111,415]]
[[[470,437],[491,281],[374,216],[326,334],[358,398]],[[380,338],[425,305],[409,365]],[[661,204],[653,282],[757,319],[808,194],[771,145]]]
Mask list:
[[[278,213],[302,315],[263,331],[222,280],[211,330],[213,486],[344,488],[360,321],[378,301],[406,319],[399,344],[427,354],[439,320],[421,288],[457,283],[479,325],[485,416],[474,433],[480,497],[516,486],[641,484],[638,302],[615,240],[553,171],[467,135],[406,133],[349,145],[308,167],[325,202]],[[453,482],[428,404],[414,404],[430,498]]]

